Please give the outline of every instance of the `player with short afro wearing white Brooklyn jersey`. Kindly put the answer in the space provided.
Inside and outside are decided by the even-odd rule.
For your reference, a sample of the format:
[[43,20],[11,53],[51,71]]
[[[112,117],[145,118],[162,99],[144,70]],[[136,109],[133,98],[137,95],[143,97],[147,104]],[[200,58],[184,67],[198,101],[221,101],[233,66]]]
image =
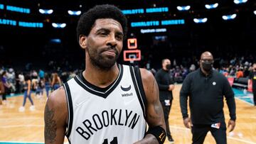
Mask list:
[[[151,72],[117,64],[127,19],[111,5],[95,6],[78,21],[83,72],[50,94],[45,142],[164,143],[164,114]],[[146,131],[146,123],[149,130]]]

